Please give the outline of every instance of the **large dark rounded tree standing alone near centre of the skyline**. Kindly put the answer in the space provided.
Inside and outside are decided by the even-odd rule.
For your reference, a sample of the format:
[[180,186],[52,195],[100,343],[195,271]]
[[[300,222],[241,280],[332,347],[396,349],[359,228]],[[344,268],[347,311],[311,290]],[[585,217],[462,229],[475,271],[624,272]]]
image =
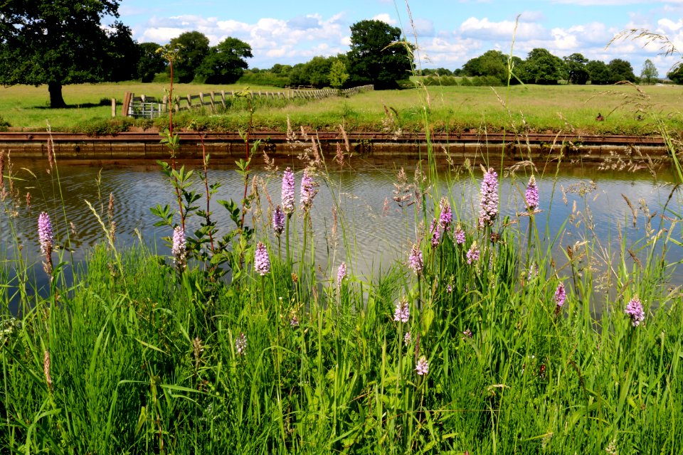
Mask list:
[[378,90],[398,88],[412,69],[412,56],[401,39],[401,28],[383,21],[359,21],[351,26],[349,80],[354,85],[374,84]]

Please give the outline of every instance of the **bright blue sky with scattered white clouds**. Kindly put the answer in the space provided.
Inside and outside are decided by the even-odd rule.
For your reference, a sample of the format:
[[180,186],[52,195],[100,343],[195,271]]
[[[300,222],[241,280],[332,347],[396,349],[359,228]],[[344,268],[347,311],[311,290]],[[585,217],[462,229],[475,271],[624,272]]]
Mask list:
[[649,58],[664,77],[683,57],[642,40],[607,47],[618,33],[645,28],[683,52],[683,0],[121,0],[119,13],[139,43],[168,43],[186,31],[200,31],[211,45],[239,38],[251,45],[250,68],[346,53],[349,27],[364,19],[399,27],[413,43],[416,36],[422,68],[454,70],[490,49],[526,58],[546,48],[558,57],[622,58],[635,75]]

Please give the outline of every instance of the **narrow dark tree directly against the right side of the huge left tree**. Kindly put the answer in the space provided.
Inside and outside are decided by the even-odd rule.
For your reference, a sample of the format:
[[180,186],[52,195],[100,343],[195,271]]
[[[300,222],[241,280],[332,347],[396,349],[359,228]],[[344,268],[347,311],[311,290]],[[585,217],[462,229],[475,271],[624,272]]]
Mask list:
[[[120,82],[132,80],[137,76],[137,65],[140,60],[140,49],[133,41],[128,26],[116,21],[111,31],[107,32],[107,60],[105,61],[105,80]],[[158,47],[158,46],[157,46]]]

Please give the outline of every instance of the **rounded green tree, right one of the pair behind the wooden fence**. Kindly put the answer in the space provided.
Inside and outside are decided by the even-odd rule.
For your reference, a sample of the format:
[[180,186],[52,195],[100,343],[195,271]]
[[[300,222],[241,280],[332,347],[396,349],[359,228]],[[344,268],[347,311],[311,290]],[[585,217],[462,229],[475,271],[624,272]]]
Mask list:
[[252,57],[250,45],[228,36],[208,50],[196,75],[207,84],[233,84],[249,67],[244,59]]

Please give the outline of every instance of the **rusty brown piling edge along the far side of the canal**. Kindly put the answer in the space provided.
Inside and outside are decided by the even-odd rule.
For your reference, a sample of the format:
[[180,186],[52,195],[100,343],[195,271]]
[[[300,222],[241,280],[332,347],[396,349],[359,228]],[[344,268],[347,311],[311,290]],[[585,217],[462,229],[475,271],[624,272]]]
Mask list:
[[[245,155],[245,142],[238,133],[179,133],[179,159],[201,159],[204,151],[212,159],[234,159]],[[0,133],[0,150],[19,159],[47,159],[52,149],[58,160],[125,161],[166,159],[169,151],[160,144],[157,132],[123,132],[115,136],[45,132]],[[564,134],[386,134],[339,132],[252,132],[250,141],[260,141],[259,151],[274,158],[299,155],[319,147],[326,156],[343,151],[374,159],[425,158],[428,144],[439,160],[461,163],[466,159],[499,161],[547,161],[563,156],[566,160],[649,161],[667,158],[660,137],[570,136]]]

